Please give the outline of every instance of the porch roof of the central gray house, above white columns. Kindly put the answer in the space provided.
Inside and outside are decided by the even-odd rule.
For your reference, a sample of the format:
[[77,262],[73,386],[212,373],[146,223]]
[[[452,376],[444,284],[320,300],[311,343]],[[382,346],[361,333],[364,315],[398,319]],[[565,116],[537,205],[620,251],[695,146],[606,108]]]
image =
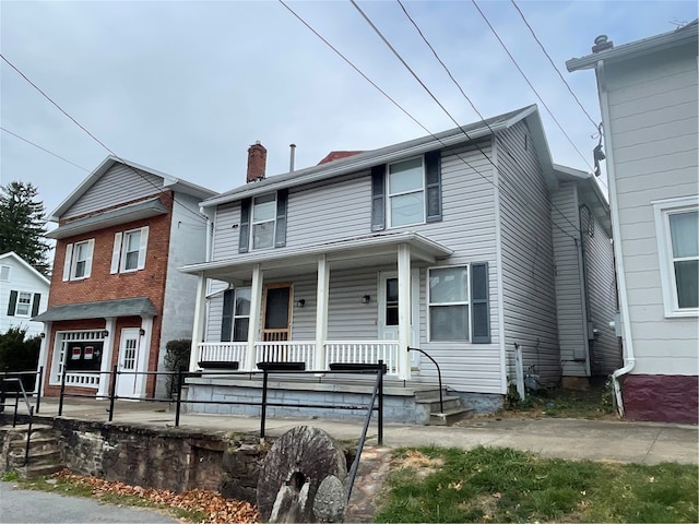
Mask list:
[[411,261],[434,264],[453,252],[451,249],[417,233],[388,233],[355,237],[340,241],[297,248],[252,251],[225,260],[190,264],[179,271],[201,274],[226,282],[248,281],[252,269],[260,264],[268,276],[292,276],[316,271],[318,257],[324,254],[333,269],[395,263],[398,247],[408,245]]

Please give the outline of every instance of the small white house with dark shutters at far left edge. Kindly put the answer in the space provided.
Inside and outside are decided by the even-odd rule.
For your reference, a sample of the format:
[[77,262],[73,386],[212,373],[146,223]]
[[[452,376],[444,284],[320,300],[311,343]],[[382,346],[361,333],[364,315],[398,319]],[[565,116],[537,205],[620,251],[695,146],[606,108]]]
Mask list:
[[26,329],[26,336],[38,335],[44,331],[44,323],[32,322],[29,320],[32,305],[29,305],[29,315],[27,317],[8,315],[10,293],[29,293],[32,294],[32,300],[34,300],[35,294],[40,294],[38,312],[43,313],[46,311],[48,306],[48,283],[39,278],[13,257],[5,257],[1,259],[0,265],[7,265],[10,267],[9,282],[0,282],[0,333],[5,333],[10,327],[21,327]]

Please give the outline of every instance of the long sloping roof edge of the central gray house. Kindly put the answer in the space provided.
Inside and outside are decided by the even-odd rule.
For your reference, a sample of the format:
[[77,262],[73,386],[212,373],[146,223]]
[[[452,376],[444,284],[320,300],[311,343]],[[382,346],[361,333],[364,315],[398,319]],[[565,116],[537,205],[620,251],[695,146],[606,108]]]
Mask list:
[[462,126],[460,128],[450,129],[448,131],[442,131],[419,139],[408,140],[406,142],[401,142],[378,150],[365,151],[328,164],[320,164],[306,169],[268,177],[257,182],[246,183],[225,193],[204,200],[201,203],[201,206],[212,207],[279,189],[328,180],[342,175],[350,175],[359,170],[369,169],[379,164],[396,162],[411,156],[424,154],[429,151],[471,142],[483,136],[489,136],[495,132],[511,128],[522,120],[528,121],[532,133],[532,140],[535,143],[542,169],[544,170],[544,176],[552,187],[554,187],[556,184],[556,178],[552,168],[548,143],[544,135],[544,128],[538,116],[538,109],[536,108],[536,105],[531,105],[498,115],[497,117]]

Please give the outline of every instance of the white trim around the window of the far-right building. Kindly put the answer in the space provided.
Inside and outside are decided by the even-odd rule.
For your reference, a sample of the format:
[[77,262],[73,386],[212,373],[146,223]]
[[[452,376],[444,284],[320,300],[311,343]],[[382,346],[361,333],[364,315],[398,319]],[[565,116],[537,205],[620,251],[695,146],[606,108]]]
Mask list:
[[699,210],[699,195],[652,201],[655,216],[655,237],[660,259],[660,281],[663,293],[665,318],[699,317],[699,308],[679,309],[677,306],[677,284],[673,264],[673,247],[668,215],[683,211]]

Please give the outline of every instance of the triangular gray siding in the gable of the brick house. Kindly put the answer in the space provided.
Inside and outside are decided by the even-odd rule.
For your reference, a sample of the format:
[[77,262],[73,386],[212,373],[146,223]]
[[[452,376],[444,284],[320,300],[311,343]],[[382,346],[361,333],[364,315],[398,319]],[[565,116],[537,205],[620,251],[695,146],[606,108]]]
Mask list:
[[103,211],[151,194],[159,194],[162,187],[163,178],[123,164],[116,164],[63,213],[61,219]]

